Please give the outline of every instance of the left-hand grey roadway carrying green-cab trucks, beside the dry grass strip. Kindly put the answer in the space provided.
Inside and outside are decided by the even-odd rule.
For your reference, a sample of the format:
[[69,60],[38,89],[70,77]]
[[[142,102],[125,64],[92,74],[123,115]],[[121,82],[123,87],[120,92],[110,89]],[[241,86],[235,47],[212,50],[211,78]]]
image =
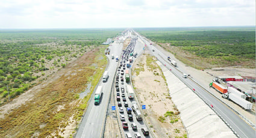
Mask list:
[[99,105],[95,105],[94,96],[92,95],[89,100],[89,106],[87,107],[87,111],[76,133],[76,137],[101,137],[106,114],[105,111],[107,109],[108,98],[110,96],[114,73],[117,67],[117,62],[115,59],[111,59],[111,54],[114,53],[114,56],[120,56],[122,46],[122,44],[117,44],[116,41],[112,44],[112,46],[110,46],[110,55],[107,55],[110,61],[107,67],[109,77],[107,82],[103,83],[101,79],[98,83],[98,86],[102,85],[103,89],[101,103]]

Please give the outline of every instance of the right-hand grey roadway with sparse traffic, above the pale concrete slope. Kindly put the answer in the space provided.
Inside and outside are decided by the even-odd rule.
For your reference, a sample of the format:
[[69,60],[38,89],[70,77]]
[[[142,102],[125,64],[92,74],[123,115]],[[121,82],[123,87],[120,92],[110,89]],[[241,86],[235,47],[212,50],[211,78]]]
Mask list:
[[[144,38],[144,37],[142,37]],[[146,45],[152,52],[152,48],[154,48],[155,52],[152,52],[154,56],[157,57],[157,59],[163,64],[166,65],[166,67],[172,71],[180,80],[182,80],[189,88],[194,88],[195,91],[198,93],[198,95],[203,98],[207,103],[213,104],[213,108],[219,113],[220,116],[222,116],[223,119],[225,119],[226,122],[236,131],[237,134],[239,134],[240,137],[248,137],[248,138],[254,138],[255,137],[255,129],[251,127],[248,123],[246,123],[242,118],[240,118],[239,115],[237,115],[236,112],[234,112],[232,109],[227,107],[225,104],[222,103],[222,101],[219,101],[217,98],[215,98],[213,95],[205,91],[201,86],[193,82],[190,78],[184,78],[182,77],[183,73],[178,71],[172,64],[170,64],[170,61],[167,61],[167,56],[164,55],[160,50],[156,49],[154,46],[150,45],[148,41],[144,39]],[[182,68],[180,68],[182,70]]]

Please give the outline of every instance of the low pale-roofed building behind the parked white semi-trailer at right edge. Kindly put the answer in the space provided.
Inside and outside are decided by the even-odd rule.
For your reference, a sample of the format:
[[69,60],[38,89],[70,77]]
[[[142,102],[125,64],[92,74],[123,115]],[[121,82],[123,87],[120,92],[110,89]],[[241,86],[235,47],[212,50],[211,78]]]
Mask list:
[[237,81],[229,81],[227,82],[229,87],[236,88],[238,91],[246,94],[251,98],[252,101],[255,102],[255,82],[237,82]]

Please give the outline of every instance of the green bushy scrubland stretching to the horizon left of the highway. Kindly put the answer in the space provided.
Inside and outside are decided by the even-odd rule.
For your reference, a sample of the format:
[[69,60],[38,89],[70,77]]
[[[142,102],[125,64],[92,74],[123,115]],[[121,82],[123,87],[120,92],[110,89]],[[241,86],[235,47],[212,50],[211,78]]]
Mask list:
[[[0,30],[0,105],[66,67],[122,29]],[[8,95],[9,92],[9,95]]]

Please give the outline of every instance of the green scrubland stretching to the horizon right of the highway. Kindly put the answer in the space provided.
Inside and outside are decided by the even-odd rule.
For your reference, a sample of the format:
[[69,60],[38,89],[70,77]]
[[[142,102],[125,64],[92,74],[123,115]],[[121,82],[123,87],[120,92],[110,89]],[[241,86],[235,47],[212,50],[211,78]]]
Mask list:
[[198,69],[235,65],[255,68],[255,27],[135,30]]

